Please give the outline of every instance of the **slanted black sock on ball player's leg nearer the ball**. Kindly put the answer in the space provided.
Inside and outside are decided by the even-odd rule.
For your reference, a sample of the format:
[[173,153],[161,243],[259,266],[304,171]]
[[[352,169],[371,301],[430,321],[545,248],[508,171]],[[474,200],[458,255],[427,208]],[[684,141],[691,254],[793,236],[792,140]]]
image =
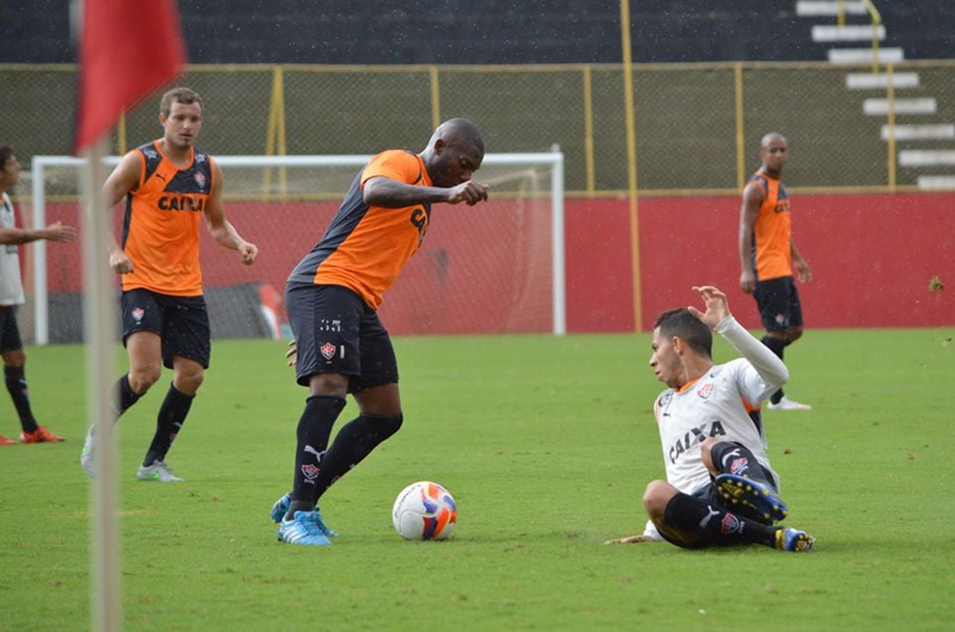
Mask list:
[[343,426],[322,457],[322,465],[315,478],[315,502],[332,483],[348,474],[382,441],[398,432],[403,418],[400,414],[396,417],[362,414]]

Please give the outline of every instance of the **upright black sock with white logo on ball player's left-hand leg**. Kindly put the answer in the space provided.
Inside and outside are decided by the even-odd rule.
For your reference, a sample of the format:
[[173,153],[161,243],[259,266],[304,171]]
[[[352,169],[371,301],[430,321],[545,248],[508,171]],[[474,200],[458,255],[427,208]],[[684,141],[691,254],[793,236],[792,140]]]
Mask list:
[[315,508],[312,498],[319,463],[329,447],[331,427],[343,408],[344,397],[312,395],[306,400],[305,411],[302,411],[295,433],[295,477],[292,479],[292,499],[286,519],[295,516],[295,512],[310,512]]

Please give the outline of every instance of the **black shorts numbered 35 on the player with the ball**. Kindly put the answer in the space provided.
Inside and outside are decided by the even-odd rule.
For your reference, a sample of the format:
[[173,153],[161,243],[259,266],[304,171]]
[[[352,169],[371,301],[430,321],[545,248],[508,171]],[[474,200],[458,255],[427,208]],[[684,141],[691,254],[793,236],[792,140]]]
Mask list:
[[394,384],[398,363],[378,313],[342,285],[286,287],[286,312],[298,348],[295,379],[349,376],[349,392]]

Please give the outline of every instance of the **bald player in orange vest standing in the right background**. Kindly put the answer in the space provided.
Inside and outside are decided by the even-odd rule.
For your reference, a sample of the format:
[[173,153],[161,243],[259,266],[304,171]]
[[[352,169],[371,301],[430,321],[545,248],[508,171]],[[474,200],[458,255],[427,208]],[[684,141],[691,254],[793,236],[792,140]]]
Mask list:
[[[793,242],[789,195],[779,181],[789,160],[786,138],[771,132],[762,138],[759,150],[762,166],[743,189],[739,212],[739,287],[753,294],[766,335],[762,342],[782,359],[783,349],[802,335],[802,306],[793,279],[796,268],[800,283],[809,283],[813,272]],[[770,410],[808,411],[776,390]]]

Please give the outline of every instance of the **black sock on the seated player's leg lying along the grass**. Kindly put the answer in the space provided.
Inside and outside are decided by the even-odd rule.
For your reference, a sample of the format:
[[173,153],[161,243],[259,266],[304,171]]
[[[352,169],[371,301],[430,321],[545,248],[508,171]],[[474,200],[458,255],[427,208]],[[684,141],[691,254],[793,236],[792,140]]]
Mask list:
[[669,499],[664,511],[668,525],[700,537],[699,544],[763,544],[775,547],[776,527],[713,509],[706,500],[687,494]]

